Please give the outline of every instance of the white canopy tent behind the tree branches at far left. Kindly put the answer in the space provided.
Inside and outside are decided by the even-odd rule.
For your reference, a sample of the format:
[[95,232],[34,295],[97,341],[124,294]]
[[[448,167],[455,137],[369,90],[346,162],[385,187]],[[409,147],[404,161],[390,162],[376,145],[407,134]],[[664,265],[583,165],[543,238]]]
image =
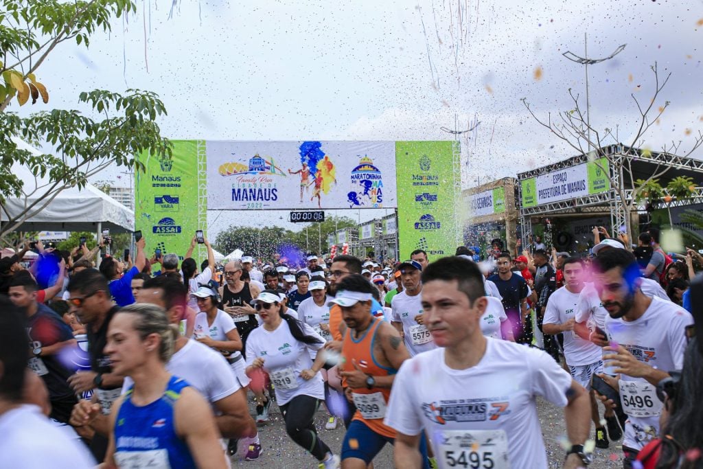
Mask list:
[[[22,150],[29,150],[35,155],[41,154],[23,141],[15,140],[15,143]],[[13,165],[12,171],[24,181],[22,193],[26,197],[6,200],[4,210],[0,214],[0,221],[3,223],[8,221],[5,210],[14,217],[41,198],[49,187],[48,178],[34,176],[27,167]],[[43,202],[38,203],[36,207],[41,205]],[[86,184],[82,189],[67,188],[58,193],[44,209],[37,213],[34,213],[35,211],[30,211],[32,217],[28,218],[18,231],[134,231],[134,212],[91,184]]]

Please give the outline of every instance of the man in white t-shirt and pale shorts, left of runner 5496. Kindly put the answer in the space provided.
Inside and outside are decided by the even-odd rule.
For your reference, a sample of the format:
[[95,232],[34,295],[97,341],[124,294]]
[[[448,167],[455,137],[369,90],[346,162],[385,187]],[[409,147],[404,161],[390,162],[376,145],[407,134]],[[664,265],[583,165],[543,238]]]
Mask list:
[[[564,358],[572,378],[587,390],[591,390],[593,373],[602,373],[601,349],[588,339],[581,338],[574,330],[576,325],[576,305],[583,290],[583,261],[568,257],[562,264],[565,285],[552,293],[547,301],[542,330],[545,334],[561,334]],[[605,427],[600,424],[598,401],[591,392],[591,418],[595,424],[595,446],[608,447]]]

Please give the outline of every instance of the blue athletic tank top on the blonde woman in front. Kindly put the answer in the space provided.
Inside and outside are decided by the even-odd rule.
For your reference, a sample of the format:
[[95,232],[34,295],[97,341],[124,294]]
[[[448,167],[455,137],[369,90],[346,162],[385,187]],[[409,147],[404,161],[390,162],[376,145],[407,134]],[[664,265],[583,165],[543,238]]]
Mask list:
[[115,462],[120,468],[195,468],[188,445],[174,428],[174,405],[188,386],[172,376],[164,395],[143,407],[132,403],[129,388],[115,420]]

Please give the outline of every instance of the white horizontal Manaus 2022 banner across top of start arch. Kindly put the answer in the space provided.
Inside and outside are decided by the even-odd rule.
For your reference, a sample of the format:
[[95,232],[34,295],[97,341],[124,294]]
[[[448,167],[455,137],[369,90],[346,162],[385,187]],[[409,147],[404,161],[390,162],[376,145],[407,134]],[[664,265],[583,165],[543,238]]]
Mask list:
[[396,207],[394,142],[208,141],[210,210]]

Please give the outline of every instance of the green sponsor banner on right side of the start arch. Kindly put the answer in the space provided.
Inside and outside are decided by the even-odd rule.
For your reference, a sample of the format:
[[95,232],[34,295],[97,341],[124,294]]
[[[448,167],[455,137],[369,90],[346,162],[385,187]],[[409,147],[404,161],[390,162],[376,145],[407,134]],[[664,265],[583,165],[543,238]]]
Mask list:
[[458,152],[453,141],[396,142],[400,259],[409,259],[415,249],[430,259],[456,250]]

